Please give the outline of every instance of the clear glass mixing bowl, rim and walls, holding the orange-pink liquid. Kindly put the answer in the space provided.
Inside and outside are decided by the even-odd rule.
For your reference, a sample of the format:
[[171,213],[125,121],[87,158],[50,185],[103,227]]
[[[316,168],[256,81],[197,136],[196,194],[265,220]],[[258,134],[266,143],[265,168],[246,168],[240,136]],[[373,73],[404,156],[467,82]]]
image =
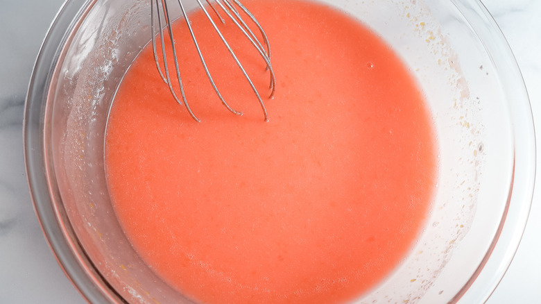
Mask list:
[[[528,96],[480,1],[327,0],[379,33],[418,78],[436,123],[436,201],[411,253],[359,303],[481,303],[504,275],[533,193]],[[24,144],[35,210],[92,303],[189,303],[132,249],[103,168],[107,114],[150,40],[148,1],[67,1],[37,58]]]

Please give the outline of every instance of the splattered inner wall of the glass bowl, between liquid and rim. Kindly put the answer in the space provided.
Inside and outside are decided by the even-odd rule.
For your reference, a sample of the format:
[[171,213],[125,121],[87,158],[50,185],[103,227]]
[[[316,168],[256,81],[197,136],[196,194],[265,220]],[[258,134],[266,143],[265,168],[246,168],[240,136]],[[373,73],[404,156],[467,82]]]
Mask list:
[[[467,1],[325,2],[370,26],[402,57],[438,137],[439,182],[423,233],[401,266],[359,302],[454,301],[490,256],[508,212],[519,132],[510,94],[517,88],[504,82],[499,50],[488,48],[480,25],[465,17]],[[45,174],[57,218],[40,220],[61,223],[80,261],[70,276],[91,278],[111,301],[189,303],[132,249],[105,182],[108,111],[150,40],[149,15],[146,1],[91,1],[65,33],[42,105]]]

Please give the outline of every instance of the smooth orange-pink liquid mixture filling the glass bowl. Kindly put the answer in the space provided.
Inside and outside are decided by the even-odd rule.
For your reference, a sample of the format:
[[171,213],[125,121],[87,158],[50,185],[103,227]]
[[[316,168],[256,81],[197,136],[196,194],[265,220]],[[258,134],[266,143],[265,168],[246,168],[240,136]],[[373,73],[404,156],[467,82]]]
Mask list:
[[[175,25],[189,117],[146,48],[110,112],[105,161],[141,257],[202,303],[340,303],[400,264],[429,212],[437,162],[427,105],[366,26],[297,0],[243,1],[266,29],[277,78],[237,28],[223,31],[269,113],[202,15],[192,26],[225,99]],[[184,35],[184,36],[183,36]]]

